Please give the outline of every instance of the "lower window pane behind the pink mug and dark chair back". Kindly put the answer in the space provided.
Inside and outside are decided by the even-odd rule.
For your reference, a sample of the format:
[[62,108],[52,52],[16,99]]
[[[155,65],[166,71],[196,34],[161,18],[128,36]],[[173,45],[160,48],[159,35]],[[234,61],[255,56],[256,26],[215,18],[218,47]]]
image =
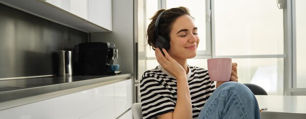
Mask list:
[[283,58],[233,58],[238,63],[240,83],[252,83],[262,87],[268,95],[283,95]]

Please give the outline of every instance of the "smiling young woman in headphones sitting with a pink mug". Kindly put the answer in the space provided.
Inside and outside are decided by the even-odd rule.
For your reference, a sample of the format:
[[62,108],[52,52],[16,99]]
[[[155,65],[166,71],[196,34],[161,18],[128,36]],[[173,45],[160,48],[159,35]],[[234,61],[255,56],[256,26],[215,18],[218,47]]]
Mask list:
[[157,11],[147,37],[160,65],[144,72],[141,79],[144,119],[260,119],[255,96],[238,83],[236,63],[230,81],[216,85],[207,70],[187,65],[199,43],[187,8]]

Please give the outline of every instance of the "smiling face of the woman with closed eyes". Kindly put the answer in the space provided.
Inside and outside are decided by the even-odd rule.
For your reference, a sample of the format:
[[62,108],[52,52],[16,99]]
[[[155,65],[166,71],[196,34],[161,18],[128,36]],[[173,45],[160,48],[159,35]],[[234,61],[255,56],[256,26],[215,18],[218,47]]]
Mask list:
[[197,55],[198,43],[197,27],[193,19],[189,15],[178,17],[170,32],[170,56],[178,59],[193,58]]

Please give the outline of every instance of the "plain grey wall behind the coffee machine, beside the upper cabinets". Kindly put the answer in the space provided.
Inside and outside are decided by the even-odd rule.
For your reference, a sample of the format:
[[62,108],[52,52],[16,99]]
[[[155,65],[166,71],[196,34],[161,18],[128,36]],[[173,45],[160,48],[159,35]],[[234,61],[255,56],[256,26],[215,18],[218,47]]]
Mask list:
[[112,32],[91,33],[90,42],[110,42],[118,48],[122,73],[133,73],[133,0],[112,0]]

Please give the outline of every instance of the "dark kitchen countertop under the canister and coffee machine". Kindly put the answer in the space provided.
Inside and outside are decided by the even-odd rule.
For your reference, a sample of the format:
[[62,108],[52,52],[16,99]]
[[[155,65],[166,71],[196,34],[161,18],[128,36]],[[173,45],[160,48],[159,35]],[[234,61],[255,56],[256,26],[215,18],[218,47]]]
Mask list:
[[0,110],[131,79],[131,74],[0,80]]

